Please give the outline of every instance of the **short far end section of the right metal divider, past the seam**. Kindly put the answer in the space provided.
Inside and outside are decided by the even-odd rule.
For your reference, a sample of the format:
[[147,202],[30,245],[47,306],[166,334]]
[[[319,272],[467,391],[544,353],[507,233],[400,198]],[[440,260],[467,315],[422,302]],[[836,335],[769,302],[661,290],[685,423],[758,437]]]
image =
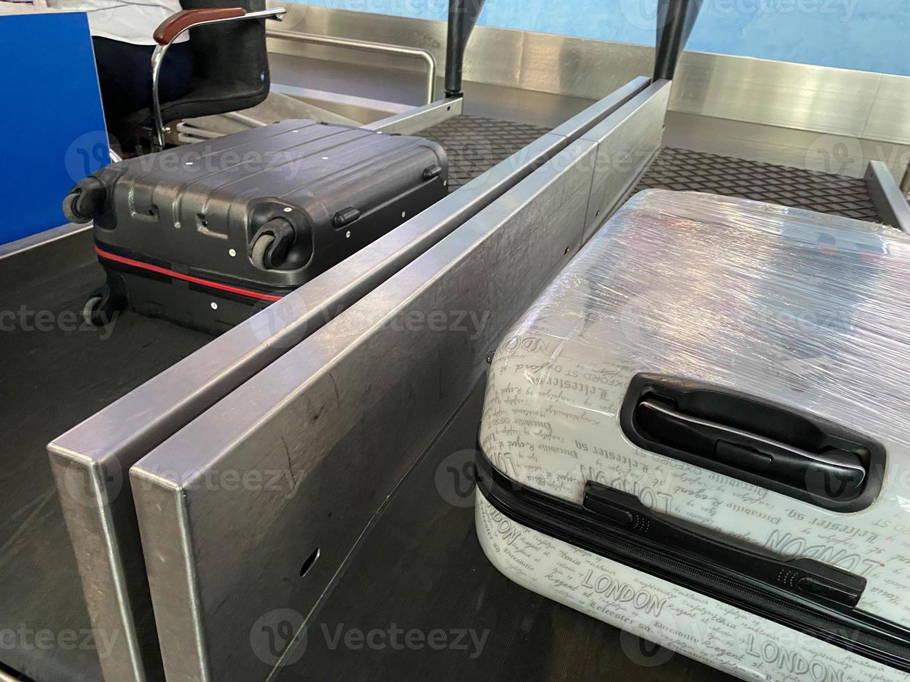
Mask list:
[[658,81],[581,135],[596,142],[597,160],[584,240],[591,238],[622,203],[661,147],[670,81]]

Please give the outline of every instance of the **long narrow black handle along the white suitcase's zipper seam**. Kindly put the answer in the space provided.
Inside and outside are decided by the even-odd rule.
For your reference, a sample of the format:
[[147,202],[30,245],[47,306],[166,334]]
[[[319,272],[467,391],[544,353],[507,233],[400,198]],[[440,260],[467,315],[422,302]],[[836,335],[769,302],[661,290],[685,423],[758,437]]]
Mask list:
[[706,567],[729,569],[813,601],[855,607],[863,596],[864,577],[814,559],[788,559],[713,529],[672,519],[644,506],[637,496],[594,481],[588,481],[584,488],[583,506],[608,523],[660,545],[669,554],[697,555]]

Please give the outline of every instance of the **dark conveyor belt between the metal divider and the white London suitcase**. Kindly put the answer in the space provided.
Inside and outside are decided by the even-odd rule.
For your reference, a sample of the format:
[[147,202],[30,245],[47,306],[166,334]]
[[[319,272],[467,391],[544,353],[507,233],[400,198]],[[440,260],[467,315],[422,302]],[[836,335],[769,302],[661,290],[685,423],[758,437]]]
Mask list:
[[[474,531],[472,496],[465,496],[470,480],[462,476],[481,399],[479,386],[389,497],[278,682],[732,679],[519,587],[492,567]],[[383,633],[372,640],[379,646],[358,646],[357,633],[371,630]],[[408,646],[410,630],[418,634]],[[434,630],[445,632],[436,635],[439,648],[421,646],[419,637]],[[467,634],[456,641],[460,631]]]

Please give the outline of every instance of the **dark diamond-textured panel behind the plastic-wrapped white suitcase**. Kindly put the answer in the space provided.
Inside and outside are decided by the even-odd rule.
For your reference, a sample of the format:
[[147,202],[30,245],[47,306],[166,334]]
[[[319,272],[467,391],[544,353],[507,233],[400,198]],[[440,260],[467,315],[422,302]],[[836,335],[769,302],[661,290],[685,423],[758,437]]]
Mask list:
[[862,178],[834,176],[691,149],[664,147],[634,192],[652,188],[738,196],[881,222]]

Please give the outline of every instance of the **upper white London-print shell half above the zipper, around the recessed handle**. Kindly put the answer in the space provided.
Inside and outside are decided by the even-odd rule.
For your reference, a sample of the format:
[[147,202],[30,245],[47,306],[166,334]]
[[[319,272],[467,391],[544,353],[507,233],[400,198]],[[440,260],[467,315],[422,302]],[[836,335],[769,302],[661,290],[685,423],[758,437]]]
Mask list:
[[[587,480],[785,556],[869,580],[910,625],[910,238],[887,226],[662,190],[632,198],[521,318],[490,368],[480,445],[581,503]],[[825,509],[632,445],[639,373],[746,392],[870,436],[884,482]]]

